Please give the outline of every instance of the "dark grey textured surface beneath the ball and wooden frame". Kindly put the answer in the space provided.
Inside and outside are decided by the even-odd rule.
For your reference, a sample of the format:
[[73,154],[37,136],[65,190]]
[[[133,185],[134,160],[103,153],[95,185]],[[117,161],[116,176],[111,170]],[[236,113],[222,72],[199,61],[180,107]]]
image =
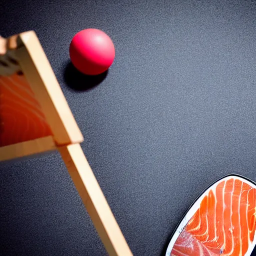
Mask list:
[[[0,6],[1,35],[36,31],[134,255],[159,255],[215,179],[256,180],[255,0]],[[109,34],[116,57],[99,85],[77,91],[68,46],[88,27]],[[0,255],[106,254],[58,153],[0,174]]]

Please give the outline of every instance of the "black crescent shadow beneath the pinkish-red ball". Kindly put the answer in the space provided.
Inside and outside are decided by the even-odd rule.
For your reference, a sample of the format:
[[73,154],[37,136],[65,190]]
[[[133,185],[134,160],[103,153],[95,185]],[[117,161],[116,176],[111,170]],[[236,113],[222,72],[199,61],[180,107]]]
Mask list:
[[101,83],[107,76],[108,70],[98,75],[86,75],[79,72],[71,62],[64,69],[64,81],[67,86],[75,91],[86,91]]

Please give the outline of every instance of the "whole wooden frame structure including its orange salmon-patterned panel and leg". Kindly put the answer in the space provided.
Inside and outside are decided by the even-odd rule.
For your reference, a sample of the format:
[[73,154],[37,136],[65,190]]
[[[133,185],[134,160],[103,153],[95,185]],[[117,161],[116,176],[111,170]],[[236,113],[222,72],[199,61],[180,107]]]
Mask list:
[[131,256],[82,141],[36,34],[0,37],[0,160],[58,150],[108,254]]

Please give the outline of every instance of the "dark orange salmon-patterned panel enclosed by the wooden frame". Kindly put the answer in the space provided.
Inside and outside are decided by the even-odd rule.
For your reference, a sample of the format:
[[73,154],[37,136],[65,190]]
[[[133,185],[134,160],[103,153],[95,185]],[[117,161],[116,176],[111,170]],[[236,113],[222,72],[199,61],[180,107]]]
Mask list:
[[52,135],[24,75],[0,76],[0,146]]

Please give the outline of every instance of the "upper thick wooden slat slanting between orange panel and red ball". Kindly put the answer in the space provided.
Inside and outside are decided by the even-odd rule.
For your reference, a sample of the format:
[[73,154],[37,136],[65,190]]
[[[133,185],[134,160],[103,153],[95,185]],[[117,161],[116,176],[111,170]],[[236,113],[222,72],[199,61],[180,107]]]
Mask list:
[[34,31],[20,33],[15,55],[58,145],[79,143],[82,134]]

